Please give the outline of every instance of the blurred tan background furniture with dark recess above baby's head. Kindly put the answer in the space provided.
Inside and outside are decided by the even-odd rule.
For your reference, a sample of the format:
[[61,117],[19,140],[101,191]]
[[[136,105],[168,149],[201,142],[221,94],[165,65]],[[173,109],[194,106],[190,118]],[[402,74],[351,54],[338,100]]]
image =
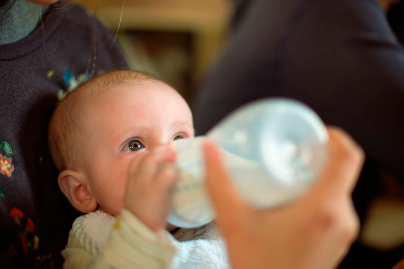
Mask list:
[[[233,14],[229,0],[79,0],[118,32],[132,69],[154,74],[187,101],[215,61]],[[119,29],[119,30],[118,30]]]

